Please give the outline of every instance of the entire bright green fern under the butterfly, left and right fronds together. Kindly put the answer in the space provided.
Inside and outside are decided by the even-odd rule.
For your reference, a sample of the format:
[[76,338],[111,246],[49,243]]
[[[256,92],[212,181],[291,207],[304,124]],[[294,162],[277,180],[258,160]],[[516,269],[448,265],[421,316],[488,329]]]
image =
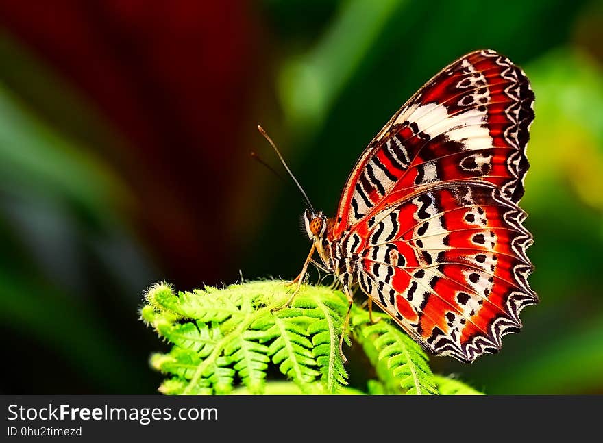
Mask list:
[[[358,393],[346,386],[339,354],[346,297],[303,285],[284,307],[293,290],[281,281],[192,292],[151,286],[140,316],[173,345],[151,357],[151,366],[169,377],[160,392],[270,392],[275,385],[267,385],[267,371],[275,365],[290,380],[282,383],[295,383],[299,392]],[[369,394],[469,393],[458,381],[434,377],[421,347],[388,319],[371,324],[368,313],[353,305],[352,326],[378,377],[367,383]]]

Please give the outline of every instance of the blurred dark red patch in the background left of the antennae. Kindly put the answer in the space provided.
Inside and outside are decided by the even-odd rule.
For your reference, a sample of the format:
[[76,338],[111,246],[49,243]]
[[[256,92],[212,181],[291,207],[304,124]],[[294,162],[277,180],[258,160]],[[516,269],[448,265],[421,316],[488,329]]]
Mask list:
[[118,147],[94,138],[74,110],[58,115],[44,97],[18,89],[119,173],[136,197],[127,208],[132,225],[155,249],[165,278],[198,286],[203,269],[206,283],[221,281],[236,266],[225,227],[235,225],[230,207],[245,179],[244,118],[260,62],[248,5],[9,0],[0,3],[0,25],[84,94],[121,138]]

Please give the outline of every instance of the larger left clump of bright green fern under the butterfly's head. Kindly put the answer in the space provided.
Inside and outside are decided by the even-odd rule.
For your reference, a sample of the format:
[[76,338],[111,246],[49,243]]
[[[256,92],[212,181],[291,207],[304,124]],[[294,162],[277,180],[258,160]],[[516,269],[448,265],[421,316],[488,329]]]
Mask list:
[[[303,392],[335,392],[347,378],[339,353],[343,299],[325,288],[302,288],[291,307],[282,282],[258,281],[193,292],[158,283],[147,291],[140,313],[174,345],[151,364],[173,377],[161,392],[227,393],[236,377],[261,393],[270,362]],[[343,297],[343,294],[341,294]],[[183,385],[186,381],[186,384]]]

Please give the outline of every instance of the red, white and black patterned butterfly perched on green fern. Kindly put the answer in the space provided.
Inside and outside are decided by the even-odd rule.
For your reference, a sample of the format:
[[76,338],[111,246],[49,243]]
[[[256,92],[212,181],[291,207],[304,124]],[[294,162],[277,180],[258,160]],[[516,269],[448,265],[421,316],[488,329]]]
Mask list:
[[295,281],[316,251],[349,307],[358,286],[424,349],[462,362],[499,351],[538,303],[518,207],[533,103],[524,71],[495,51],[443,68],[360,155],[333,218],[304,193],[312,247]]

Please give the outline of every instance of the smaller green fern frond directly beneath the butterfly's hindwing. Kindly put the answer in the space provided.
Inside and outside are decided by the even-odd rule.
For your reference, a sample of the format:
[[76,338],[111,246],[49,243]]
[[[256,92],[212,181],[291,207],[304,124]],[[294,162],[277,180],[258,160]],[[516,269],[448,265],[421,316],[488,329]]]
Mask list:
[[438,389],[421,346],[389,319],[371,324],[363,309],[354,308],[354,337],[362,345],[386,393],[437,394]]

